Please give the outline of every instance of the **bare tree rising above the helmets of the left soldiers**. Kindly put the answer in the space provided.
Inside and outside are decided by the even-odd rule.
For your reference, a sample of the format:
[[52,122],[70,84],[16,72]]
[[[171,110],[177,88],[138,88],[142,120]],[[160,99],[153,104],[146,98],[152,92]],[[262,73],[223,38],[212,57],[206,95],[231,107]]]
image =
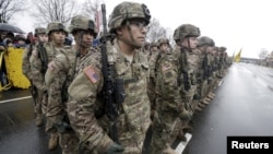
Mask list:
[[32,16],[38,21],[36,25],[45,25],[49,22],[68,24],[75,15],[75,0],[32,0],[34,10]]

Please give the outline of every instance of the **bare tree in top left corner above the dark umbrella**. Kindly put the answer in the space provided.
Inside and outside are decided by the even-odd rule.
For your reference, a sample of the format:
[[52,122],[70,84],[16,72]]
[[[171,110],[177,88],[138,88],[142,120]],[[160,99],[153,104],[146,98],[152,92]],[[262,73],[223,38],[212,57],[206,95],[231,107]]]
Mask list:
[[27,8],[25,0],[0,0],[0,22],[8,23],[11,17]]

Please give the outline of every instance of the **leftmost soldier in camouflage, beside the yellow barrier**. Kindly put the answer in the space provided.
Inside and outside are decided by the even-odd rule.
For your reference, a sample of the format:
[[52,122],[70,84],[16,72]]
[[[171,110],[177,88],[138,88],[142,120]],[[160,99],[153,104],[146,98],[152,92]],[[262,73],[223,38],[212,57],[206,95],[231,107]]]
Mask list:
[[35,46],[37,46],[39,43],[47,43],[48,37],[46,35],[46,28],[44,27],[37,27],[35,28],[35,38],[34,37],[29,38],[32,39],[32,43],[29,46],[25,49],[24,55],[23,55],[23,64],[22,64],[22,70],[24,75],[31,81],[31,93],[34,99],[34,111],[37,114],[36,115],[36,126],[40,127],[43,125],[43,111],[41,111],[41,102],[43,102],[43,91],[38,91],[37,87],[33,84],[33,76],[32,76],[32,71],[31,71],[31,55]]

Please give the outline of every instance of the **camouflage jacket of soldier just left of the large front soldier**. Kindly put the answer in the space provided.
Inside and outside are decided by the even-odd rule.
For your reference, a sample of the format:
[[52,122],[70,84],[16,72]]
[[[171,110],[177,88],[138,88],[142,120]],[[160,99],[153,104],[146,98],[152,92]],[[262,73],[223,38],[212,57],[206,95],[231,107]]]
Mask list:
[[[93,48],[88,52],[95,52]],[[66,109],[64,103],[68,102],[68,86],[74,78],[75,70],[81,63],[81,57],[76,58],[74,47],[64,47],[56,55],[48,64],[45,75],[45,82],[48,90],[48,110],[47,116],[56,116],[63,114]],[[75,64],[76,62],[76,64]]]

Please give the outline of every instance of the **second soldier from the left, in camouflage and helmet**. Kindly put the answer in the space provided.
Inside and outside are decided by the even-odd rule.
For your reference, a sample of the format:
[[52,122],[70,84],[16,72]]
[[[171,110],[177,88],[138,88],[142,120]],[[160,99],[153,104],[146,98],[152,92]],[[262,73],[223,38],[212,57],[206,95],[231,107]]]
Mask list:
[[[48,44],[39,44],[31,57],[31,66],[33,73],[33,84],[38,88],[38,91],[43,91],[43,108],[46,117],[50,117],[50,112],[47,110],[51,110],[50,106],[47,106],[48,93],[45,84],[45,73],[47,71],[48,62],[56,57],[59,52],[59,49],[63,48],[64,38],[68,35],[68,32],[63,24],[61,23],[49,23],[47,25],[47,36],[49,39]],[[50,133],[50,139],[48,142],[48,149],[54,150],[58,145],[58,133],[57,129],[54,127],[54,121],[47,119],[46,131]]]

